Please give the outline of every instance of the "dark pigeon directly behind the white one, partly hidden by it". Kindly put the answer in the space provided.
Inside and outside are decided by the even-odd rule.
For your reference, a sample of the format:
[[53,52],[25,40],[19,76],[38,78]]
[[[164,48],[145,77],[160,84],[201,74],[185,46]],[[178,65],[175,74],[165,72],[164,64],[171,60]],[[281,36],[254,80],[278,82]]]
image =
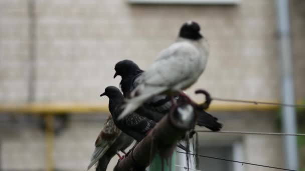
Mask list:
[[[131,60],[121,60],[115,64],[114,77],[121,76],[120,87],[125,97],[136,87],[138,84],[138,77],[143,73],[143,70]],[[182,97],[176,96],[177,103],[182,103]],[[172,101],[169,95],[157,95],[148,99],[141,105],[136,112],[144,114],[143,116],[153,119],[158,122],[160,119],[170,111],[172,107]],[[213,131],[219,131],[222,128],[222,124],[219,123],[216,117],[207,113],[204,110],[195,109],[198,115],[197,125],[205,126]]]

